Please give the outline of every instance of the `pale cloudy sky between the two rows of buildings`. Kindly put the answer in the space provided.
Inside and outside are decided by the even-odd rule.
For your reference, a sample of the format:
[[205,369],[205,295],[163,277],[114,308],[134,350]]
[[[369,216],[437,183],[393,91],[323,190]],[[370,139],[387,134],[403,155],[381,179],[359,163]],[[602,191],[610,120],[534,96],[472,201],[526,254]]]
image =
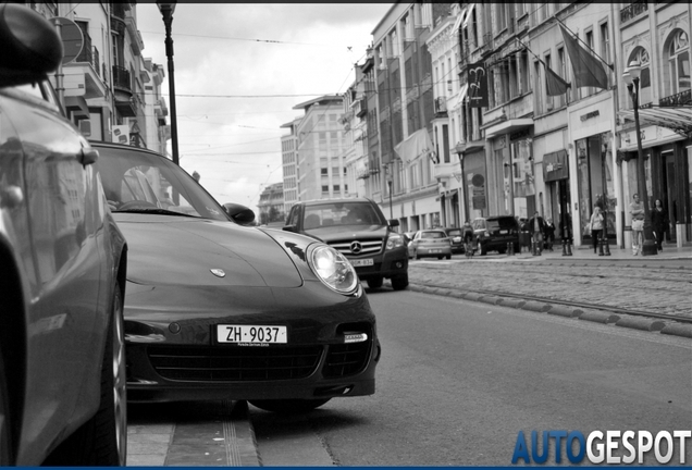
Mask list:
[[[173,14],[181,165],[221,203],[257,211],[282,181],[281,128],[293,107],[343,94],[391,3],[178,3]],[[165,30],[155,3],[137,4],[144,57],[162,64]],[[169,121],[170,123],[170,121]],[[171,146],[169,144],[169,151]]]

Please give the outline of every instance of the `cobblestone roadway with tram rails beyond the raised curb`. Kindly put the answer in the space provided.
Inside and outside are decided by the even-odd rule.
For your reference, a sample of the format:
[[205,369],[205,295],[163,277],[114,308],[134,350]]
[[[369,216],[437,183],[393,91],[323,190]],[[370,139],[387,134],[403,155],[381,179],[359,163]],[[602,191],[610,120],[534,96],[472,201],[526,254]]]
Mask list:
[[555,262],[560,256],[557,252],[541,257],[477,256],[470,260],[455,256],[450,261],[412,261],[409,281],[692,318],[692,260],[683,268],[662,268],[664,258],[652,257],[644,268],[621,259],[621,255],[614,252],[613,263],[601,258],[601,265],[588,264],[585,261],[594,258],[585,253],[576,255],[569,264]]

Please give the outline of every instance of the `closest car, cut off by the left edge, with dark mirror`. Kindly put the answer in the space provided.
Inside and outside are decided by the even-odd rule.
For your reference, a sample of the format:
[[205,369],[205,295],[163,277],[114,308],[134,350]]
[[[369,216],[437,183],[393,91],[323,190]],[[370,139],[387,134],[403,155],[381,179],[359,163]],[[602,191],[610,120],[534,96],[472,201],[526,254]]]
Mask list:
[[0,4],[0,466],[124,466],[127,248],[47,74],[62,41]]

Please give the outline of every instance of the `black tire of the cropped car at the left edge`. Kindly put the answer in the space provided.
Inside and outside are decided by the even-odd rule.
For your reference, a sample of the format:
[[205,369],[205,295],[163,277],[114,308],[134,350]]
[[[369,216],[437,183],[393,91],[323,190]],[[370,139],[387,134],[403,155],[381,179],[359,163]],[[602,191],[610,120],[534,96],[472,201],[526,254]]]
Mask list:
[[127,396],[123,299],[115,285],[101,364],[98,411],[46,460],[48,466],[124,467],[127,459]]

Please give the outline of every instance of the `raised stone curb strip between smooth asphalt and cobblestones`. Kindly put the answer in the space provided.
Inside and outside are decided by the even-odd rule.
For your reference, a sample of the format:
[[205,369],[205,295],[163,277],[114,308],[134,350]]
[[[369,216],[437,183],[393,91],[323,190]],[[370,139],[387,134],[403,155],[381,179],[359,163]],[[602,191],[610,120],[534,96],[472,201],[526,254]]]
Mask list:
[[470,301],[480,301],[502,307],[535,311],[539,313],[548,313],[578,320],[586,320],[595,323],[615,324],[616,326],[631,327],[647,332],[659,332],[662,334],[692,338],[692,324],[682,324],[677,322],[666,323],[663,320],[650,318],[621,317],[605,310],[582,310],[580,308],[572,308],[563,305],[552,305],[535,300],[522,300],[514,297],[503,297],[502,295],[494,296],[474,292],[461,292],[459,289],[446,287],[430,287],[425,285],[409,284],[409,289],[413,292],[422,292],[424,294],[443,295]]

